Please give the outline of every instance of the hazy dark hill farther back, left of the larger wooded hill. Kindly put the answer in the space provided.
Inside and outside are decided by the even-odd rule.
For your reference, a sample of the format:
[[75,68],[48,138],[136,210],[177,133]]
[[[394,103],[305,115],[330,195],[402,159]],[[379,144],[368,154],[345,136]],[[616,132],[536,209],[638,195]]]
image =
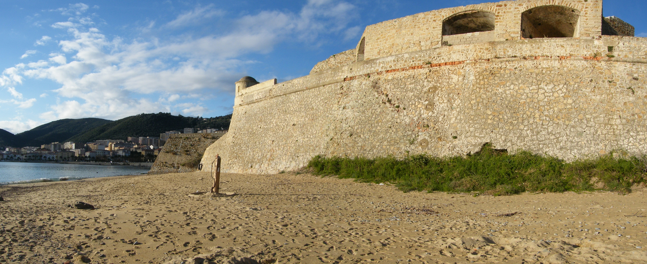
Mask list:
[[16,147],[41,146],[52,142],[65,142],[67,138],[85,133],[94,127],[111,123],[101,118],[61,119],[16,134]]

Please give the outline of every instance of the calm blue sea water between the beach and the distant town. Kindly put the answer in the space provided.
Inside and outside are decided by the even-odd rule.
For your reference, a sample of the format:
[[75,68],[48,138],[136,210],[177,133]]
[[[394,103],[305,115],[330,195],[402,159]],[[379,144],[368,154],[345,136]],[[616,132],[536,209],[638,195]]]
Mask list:
[[0,184],[68,181],[117,175],[141,175],[149,168],[122,165],[82,165],[32,162],[0,162]]

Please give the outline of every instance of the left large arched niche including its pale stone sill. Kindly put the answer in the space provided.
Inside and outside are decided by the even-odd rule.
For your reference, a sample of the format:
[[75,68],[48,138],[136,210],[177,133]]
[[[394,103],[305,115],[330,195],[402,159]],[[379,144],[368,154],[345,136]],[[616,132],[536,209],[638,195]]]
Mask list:
[[470,10],[443,20],[443,45],[494,41],[494,13]]

